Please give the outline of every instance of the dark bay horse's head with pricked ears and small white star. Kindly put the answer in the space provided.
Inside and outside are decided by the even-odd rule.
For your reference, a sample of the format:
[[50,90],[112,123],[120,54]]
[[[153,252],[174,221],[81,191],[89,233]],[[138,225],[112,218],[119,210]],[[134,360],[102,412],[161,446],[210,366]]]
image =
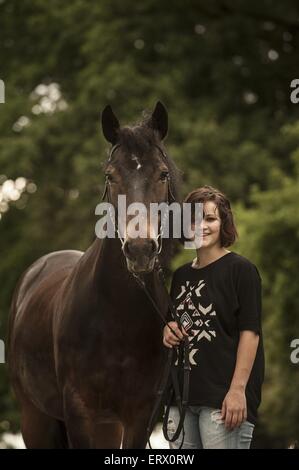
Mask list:
[[[156,213],[157,223],[153,223],[151,210],[161,203],[171,203],[177,194],[176,169],[163,145],[168,131],[168,113],[158,102],[142,123],[121,128],[111,106],[106,106],[102,129],[106,140],[112,144],[105,166],[105,194],[116,210],[115,225],[123,239],[127,268],[135,274],[149,273],[154,269],[162,243],[161,212]],[[125,214],[120,214],[119,196],[125,196],[126,208],[131,208]],[[137,225],[134,223],[136,211]]]

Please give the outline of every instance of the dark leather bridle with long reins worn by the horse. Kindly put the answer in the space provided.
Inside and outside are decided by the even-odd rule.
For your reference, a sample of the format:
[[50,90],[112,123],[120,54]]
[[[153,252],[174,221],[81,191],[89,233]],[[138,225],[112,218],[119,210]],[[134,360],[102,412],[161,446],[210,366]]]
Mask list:
[[[112,149],[110,150],[109,157],[108,157],[108,163],[111,161],[114,152],[120,146],[121,146],[121,144],[118,143],[118,144],[115,144],[112,147]],[[154,144],[154,146],[159,150],[159,152],[162,156],[162,159],[163,159],[164,163],[166,164],[166,166],[168,168],[166,153],[164,152],[164,150],[161,147],[159,147],[159,145]],[[169,173],[167,175],[167,185],[168,186],[167,186],[167,201],[166,202],[169,205],[171,200],[175,201],[175,197],[174,197],[172,189],[171,189],[171,181],[170,181],[170,174]],[[101,200],[103,201],[105,199],[105,197],[107,196],[107,201],[109,203],[109,206],[108,206],[109,215],[110,215],[110,218],[111,218],[112,223],[114,225],[115,232],[118,234],[118,237],[119,237],[119,240],[120,240],[120,243],[121,243],[121,247],[122,247],[122,251],[124,252],[125,241],[124,241],[124,239],[122,238],[122,236],[120,234],[117,220],[114,220],[114,216],[111,213],[111,205],[112,205],[111,201],[112,201],[112,199],[111,199],[110,191],[111,191],[110,190],[110,182],[109,182],[108,177],[106,177],[105,187],[104,187],[104,191],[103,191]],[[162,286],[162,288],[163,288],[163,290],[165,291],[165,294],[166,294],[170,314],[171,314],[173,320],[175,321],[176,320],[175,308],[172,304],[171,297],[168,294],[167,288],[165,286],[165,278],[164,278],[163,268],[162,268],[160,260],[159,260],[159,255],[161,254],[161,251],[162,251],[162,240],[163,240],[163,228],[164,228],[164,222],[165,222],[165,215],[167,216],[168,214],[167,213],[164,214],[164,218],[161,220],[160,227],[159,227],[159,232],[158,232],[157,239],[156,239],[156,241],[158,242],[158,250],[157,250],[157,254],[156,254],[156,263],[155,263],[155,268],[154,269],[158,273],[158,277],[160,279],[161,286]],[[159,243],[159,240],[160,240],[160,243]],[[162,323],[164,324],[164,326],[167,326],[170,329],[170,331],[179,339],[179,337],[176,334],[176,332],[174,331],[174,329],[172,327],[170,327],[168,322],[165,320],[165,316],[161,312],[161,310],[160,310],[159,306],[157,305],[155,299],[153,298],[150,291],[148,290],[144,279],[142,279],[142,277],[137,273],[132,273],[132,275],[135,278],[137,284],[145,292],[146,296],[150,300],[151,304],[153,305],[156,313],[160,317],[160,319],[161,319]],[[181,347],[182,345],[183,345],[183,348]],[[157,399],[156,399],[156,402],[154,404],[152,415],[150,417],[149,424],[148,424],[148,427],[147,427],[147,441],[149,443],[150,449],[152,448],[151,443],[150,443],[150,435],[151,435],[151,433],[154,429],[156,420],[159,416],[160,408],[165,403],[166,396],[168,396],[168,403],[167,403],[167,406],[166,406],[166,410],[165,410],[165,414],[164,414],[164,420],[163,420],[163,434],[164,434],[164,437],[169,442],[174,442],[175,440],[178,439],[178,437],[180,436],[180,433],[182,431],[183,432],[183,439],[182,439],[182,442],[181,442],[179,448],[182,447],[183,442],[184,442],[184,437],[185,437],[184,419],[185,419],[185,414],[186,414],[186,408],[187,408],[187,405],[188,405],[189,381],[190,381],[190,370],[191,370],[190,361],[189,361],[189,341],[188,341],[188,338],[187,339],[185,338],[183,343],[180,343],[180,345],[176,348],[177,348],[177,353],[178,353],[177,354],[177,356],[178,356],[177,367],[175,367],[175,362],[176,362],[176,357],[175,356],[176,355],[174,354],[174,349],[171,348],[168,351],[167,363],[165,365],[164,373],[162,375],[162,380],[160,382],[160,386],[159,386],[159,389],[158,389],[158,392],[157,392]],[[183,367],[183,370],[184,370],[182,395],[181,395],[181,391],[180,391],[179,380],[178,380],[178,377],[177,377],[178,370],[179,370],[180,367]],[[177,427],[175,433],[173,434],[172,437],[169,437],[168,430],[167,430],[167,423],[168,423],[170,407],[171,407],[172,400],[173,400],[174,396],[175,396],[175,399],[176,399],[177,407],[179,409],[180,420],[179,420],[179,424],[178,424],[178,427]]]

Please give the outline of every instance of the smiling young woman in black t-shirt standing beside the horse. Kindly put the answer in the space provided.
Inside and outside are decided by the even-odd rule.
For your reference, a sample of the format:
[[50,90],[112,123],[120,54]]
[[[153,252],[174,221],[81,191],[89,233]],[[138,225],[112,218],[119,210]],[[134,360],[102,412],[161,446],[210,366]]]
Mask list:
[[[177,269],[172,280],[177,321],[169,325],[180,340],[167,326],[163,332],[165,346],[177,346],[184,336],[190,346],[183,448],[248,449],[264,377],[261,279],[249,260],[227,249],[237,231],[226,196],[204,186],[185,202],[203,204],[202,242],[197,257]],[[178,421],[172,406],[170,436]],[[181,439],[182,433],[170,447],[179,448]]]

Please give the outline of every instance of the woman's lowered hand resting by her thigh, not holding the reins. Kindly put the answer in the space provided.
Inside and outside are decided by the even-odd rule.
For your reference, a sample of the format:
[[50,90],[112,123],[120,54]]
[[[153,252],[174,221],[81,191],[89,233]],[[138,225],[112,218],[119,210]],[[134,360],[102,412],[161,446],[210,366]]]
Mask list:
[[225,420],[225,427],[228,429],[234,429],[246,421],[247,404],[243,389],[229,389],[222,403],[221,417]]

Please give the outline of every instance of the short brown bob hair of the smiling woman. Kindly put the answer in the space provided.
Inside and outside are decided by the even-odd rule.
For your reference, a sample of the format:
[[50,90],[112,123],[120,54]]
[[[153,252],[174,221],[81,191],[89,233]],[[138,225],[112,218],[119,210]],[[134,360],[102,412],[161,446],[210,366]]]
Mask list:
[[[212,201],[216,204],[220,219],[220,243],[222,247],[231,246],[238,237],[230,202],[225,194],[212,186],[203,186],[191,191],[184,199],[185,203],[195,204],[196,202]],[[191,214],[194,217],[194,210],[191,208]]]

